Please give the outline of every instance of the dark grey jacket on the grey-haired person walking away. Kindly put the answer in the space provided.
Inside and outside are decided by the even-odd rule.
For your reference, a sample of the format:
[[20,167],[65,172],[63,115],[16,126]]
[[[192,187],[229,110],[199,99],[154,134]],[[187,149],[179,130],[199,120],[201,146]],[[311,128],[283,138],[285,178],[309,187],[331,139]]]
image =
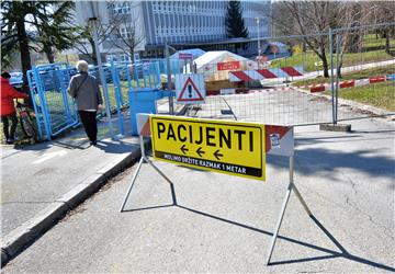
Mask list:
[[98,110],[103,103],[98,80],[86,72],[71,77],[68,93],[76,100],[77,110]]

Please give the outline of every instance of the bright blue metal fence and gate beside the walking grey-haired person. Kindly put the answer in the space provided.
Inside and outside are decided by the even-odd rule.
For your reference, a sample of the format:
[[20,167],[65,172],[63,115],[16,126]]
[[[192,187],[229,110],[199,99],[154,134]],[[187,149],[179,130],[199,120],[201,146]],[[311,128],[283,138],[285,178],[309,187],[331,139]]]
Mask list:
[[[184,69],[179,60],[171,60],[170,68],[174,73]],[[162,89],[167,81],[167,62],[165,59],[140,60],[136,64],[111,61],[102,69],[105,89],[101,85],[99,67],[90,66],[89,73],[98,79],[104,106],[103,93],[108,91],[111,113],[117,114],[117,130],[121,135],[125,135],[122,111],[129,105],[128,92],[139,89]],[[66,129],[79,125],[75,102],[67,92],[70,78],[76,73],[77,70],[67,64],[36,66],[27,71],[41,139],[49,140]],[[98,115],[104,116],[104,112]]]

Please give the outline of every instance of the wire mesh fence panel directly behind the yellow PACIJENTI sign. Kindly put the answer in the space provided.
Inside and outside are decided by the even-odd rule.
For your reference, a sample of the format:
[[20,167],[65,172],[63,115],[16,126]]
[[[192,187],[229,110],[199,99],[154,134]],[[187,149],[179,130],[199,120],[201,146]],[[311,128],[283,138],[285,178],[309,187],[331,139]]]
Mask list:
[[[328,34],[311,38],[328,39]],[[317,99],[291,83],[323,76],[320,59],[303,48],[304,36],[269,37],[269,55],[257,59],[225,58],[198,65],[208,96],[194,107],[199,117],[230,118],[279,125],[331,122],[331,102]],[[328,46],[325,54],[330,57]],[[278,57],[281,58],[278,58]],[[234,66],[232,66],[234,65]],[[212,96],[211,96],[212,95]]]

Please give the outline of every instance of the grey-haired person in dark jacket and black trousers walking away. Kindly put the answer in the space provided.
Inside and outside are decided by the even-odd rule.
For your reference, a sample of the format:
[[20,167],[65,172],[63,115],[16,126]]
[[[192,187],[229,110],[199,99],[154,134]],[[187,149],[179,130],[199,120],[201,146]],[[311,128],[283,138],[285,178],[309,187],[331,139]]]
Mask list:
[[77,62],[78,75],[71,77],[68,93],[75,99],[77,111],[91,145],[98,140],[98,110],[102,109],[103,99],[98,80],[88,73],[88,62]]

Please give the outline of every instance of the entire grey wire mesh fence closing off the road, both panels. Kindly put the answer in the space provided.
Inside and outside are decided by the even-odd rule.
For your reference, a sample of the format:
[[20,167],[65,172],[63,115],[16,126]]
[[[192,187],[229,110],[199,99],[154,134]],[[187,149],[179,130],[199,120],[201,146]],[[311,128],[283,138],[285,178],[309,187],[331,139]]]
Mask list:
[[[258,62],[240,60],[235,68],[235,60],[229,58],[198,65],[207,94],[213,96],[191,109],[190,115],[280,125],[376,116],[377,112],[366,105],[381,109],[380,115],[393,115],[395,39],[383,35],[394,27],[395,23],[386,23],[306,36],[266,37],[262,39],[274,50]],[[306,38],[321,43],[317,49],[321,58],[308,47]],[[283,55],[276,58],[278,54]],[[336,69],[340,64],[341,75]],[[218,71],[227,66],[229,69]]]

